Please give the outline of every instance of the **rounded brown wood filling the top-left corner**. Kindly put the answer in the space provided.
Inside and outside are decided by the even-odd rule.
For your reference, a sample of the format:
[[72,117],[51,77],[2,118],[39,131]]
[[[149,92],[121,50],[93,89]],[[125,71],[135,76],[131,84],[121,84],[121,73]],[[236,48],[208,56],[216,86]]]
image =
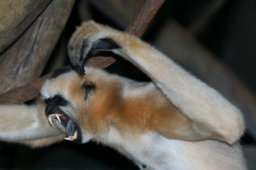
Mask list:
[[51,0],[0,1],[0,53],[17,39]]

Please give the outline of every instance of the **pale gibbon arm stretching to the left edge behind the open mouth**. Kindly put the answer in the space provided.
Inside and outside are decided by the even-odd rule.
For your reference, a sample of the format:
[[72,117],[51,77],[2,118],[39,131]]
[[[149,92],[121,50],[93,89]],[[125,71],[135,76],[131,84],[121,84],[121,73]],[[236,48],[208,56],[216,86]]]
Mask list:
[[40,147],[64,137],[65,132],[49,124],[44,104],[0,105],[0,141]]

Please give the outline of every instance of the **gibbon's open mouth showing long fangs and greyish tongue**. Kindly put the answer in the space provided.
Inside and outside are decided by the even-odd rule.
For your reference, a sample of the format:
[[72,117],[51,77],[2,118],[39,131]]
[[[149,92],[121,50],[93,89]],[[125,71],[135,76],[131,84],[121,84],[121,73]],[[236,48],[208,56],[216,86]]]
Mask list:
[[71,120],[71,118],[59,113],[48,115],[48,120],[51,125],[52,125],[52,118],[55,118],[56,120],[58,120],[58,122],[60,122],[60,124],[63,125],[63,127],[65,127],[68,137],[64,139],[67,139],[68,141],[74,141],[77,139],[76,124],[74,123],[73,120]]

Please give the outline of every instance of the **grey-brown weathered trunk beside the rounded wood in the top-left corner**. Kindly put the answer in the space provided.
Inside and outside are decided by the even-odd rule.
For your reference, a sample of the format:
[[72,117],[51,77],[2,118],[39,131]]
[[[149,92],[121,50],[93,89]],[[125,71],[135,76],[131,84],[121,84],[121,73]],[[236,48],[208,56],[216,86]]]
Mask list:
[[74,0],[51,1],[0,57],[0,93],[40,77],[65,27]]

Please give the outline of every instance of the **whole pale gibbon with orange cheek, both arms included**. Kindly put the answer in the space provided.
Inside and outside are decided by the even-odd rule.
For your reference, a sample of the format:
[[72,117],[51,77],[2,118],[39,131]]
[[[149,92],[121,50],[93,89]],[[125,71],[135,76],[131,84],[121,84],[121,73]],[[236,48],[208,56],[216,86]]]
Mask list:
[[[124,57],[152,82],[84,67],[93,50]],[[111,146],[140,169],[246,169],[239,145],[244,132],[240,111],[152,46],[125,32],[86,22],[70,39],[68,53],[80,74],[58,70],[41,90],[53,127],[37,109],[41,105],[21,111],[22,118],[29,117],[28,112],[35,115],[29,122],[24,120],[26,125],[11,119],[17,127],[5,127],[4,113],[25,106],[1,106],[0,139],[44,146],[60,141],[66,132],[70,141]],[[25,132],[20,137],[22,126]],[[8,138],[4,128],[13,132]]]

